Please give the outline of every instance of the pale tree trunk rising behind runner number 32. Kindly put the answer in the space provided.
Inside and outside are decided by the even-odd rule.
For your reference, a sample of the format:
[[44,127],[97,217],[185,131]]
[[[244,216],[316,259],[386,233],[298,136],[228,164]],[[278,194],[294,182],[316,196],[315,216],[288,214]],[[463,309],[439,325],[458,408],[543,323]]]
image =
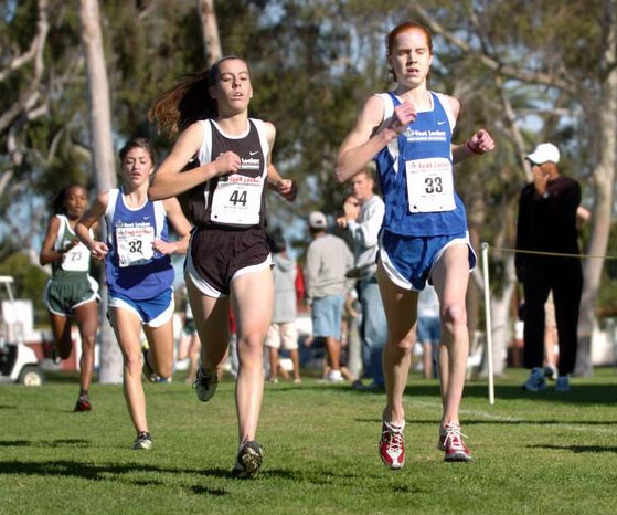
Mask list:
[[[88,77],[89,122],[92,151],[96,185],[99,191],[107,191],[116,185],[114,146],[111,143],[111,109],[109,106],[109,83],[105,67],[100,12],[97,0],[79,0],[82,42],[86,56]],[[100,369],[102,383],[123,382],[123,356],[107,322],[107,288],[104,272],[100,277]]]

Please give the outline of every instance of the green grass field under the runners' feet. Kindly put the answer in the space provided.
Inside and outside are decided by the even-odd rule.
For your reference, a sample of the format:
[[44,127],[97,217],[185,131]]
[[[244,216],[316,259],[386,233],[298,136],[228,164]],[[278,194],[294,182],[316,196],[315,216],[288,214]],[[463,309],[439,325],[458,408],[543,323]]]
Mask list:
[[94,385],[73,413],[74,375],[42,388],[0,387],[0,514],[613,514],[617,509],[617,371],[573,379],[573,391],[520,389],[508,370],[490,406],[469,381],[461,409],[471,463],[436,450],[436,381],[412,377],[407,459],[382,465],[384,395],[345,386],[267,385],[258,434],[264,467],[233,480],[233,382],[200,403],[190,386],[147,385],[155,446],[135,438],[120,386]]

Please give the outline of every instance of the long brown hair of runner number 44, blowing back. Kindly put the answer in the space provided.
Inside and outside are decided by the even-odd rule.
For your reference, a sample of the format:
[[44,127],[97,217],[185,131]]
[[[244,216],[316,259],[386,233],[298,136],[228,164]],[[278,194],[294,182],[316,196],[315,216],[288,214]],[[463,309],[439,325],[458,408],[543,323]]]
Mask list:
[[174,134],[181,133],[200,119],[216,118],[219,106],[210,94],[210,88],[220,77],[221,63],[231,59],[245,62],[237,55],[225,55],[210,69],[183,75],[180,83],[155,101],[148,109],[148,119],[156,123],[160,132]]

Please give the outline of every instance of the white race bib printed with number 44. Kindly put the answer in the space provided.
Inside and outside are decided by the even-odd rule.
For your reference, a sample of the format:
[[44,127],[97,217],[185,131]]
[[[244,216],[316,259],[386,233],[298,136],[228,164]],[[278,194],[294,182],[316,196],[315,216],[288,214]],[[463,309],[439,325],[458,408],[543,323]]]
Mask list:
[[263,183],[263,177],[240,174],[220,178],[212,196],[211,220],[238,225],[258,224]]

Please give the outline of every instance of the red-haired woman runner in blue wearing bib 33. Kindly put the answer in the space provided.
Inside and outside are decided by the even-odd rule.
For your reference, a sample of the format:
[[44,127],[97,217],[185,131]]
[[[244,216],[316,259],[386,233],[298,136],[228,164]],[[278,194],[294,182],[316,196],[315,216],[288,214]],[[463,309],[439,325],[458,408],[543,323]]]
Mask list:
[[443,325],[438,448],[445,461],[468,461],[471,452],[458,412],[469,351],[465,295],[476,258],[453,164],[492,150],[494,143],[483,129],[462,145],[451,143],[460,104],[427,90],[433,42],[425,27],[397,25],[386,38],[386,51],[395,88],[365,102],[341,145],[334,171],[345,181],[375,159],[385,203],[377,265],[389,324],[380,456],[391,469],[401,469],[405,461],[403,393],[416,339],[417,292],[429,280],[439,296]]

